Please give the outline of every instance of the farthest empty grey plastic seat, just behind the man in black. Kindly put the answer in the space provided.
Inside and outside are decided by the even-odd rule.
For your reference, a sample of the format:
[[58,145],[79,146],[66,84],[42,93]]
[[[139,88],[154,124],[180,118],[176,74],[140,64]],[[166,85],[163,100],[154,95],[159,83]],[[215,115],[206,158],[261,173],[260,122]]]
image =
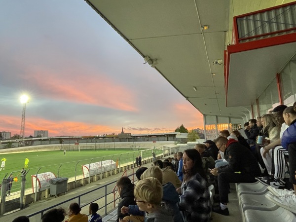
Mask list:
[[268,189],[267,186],[256,182],[256,183],[238,183],[236,184],[237,196],[239,197],[241,194],[265,194]]

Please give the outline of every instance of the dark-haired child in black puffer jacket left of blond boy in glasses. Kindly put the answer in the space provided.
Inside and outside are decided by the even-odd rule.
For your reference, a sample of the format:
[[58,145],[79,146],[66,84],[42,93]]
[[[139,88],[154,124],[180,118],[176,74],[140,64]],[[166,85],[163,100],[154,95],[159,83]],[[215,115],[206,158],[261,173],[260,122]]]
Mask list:
[[125,216],[128,216],[128,214],[121,213],[121,208],[128,207],[129,205],[136,205],[134,196],[135,185],[132,184],[131,180],[128,177],[121,177],[117,181],[116,185],[118,188],[118,194],[122,198],[117,207],[116,222],[119,222],[119,219],[123,219]]

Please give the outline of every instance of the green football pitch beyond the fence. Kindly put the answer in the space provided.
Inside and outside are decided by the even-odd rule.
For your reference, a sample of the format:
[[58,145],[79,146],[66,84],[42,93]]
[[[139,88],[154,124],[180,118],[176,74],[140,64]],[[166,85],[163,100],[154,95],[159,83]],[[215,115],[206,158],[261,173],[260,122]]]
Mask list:
[[[162,150],[155,149],[154,152],[157,155],[161,153]],[[76,175],[82,175],[81,165],[112,159],[114,162],[118,160],[118,165],[120,166],[125,165],[127,162],[135,162],[135,158],[139,154],[142,155],[142,160],[152,158],[152,149],[133,151],[124,148],[116,148],[95,151],[81,150],[80,152],[67,150],[66,155],[64,155],[64,150],[0,154],[0,159],[3,157],[6,158],[5,170],[0,171],[0,182],[2,182],[6,174],[9,176],[11,172],[14,172],[13,176],[16,177],[22,167],[24,167],[25,158],[29,159],[29,172],[26,176],[26,188],[29,188],[32,187],[31,175],[35,175],[38,170],[38,174],[52,172],[56,177],[71,178],[75,176],[75,168]],[[7,176],[5,178],[7,178]],[[19,181],[15,182],[13,185],[14,189],[17,189],[17,186],[20,187],[21,178],[19,177],[18,180]]]

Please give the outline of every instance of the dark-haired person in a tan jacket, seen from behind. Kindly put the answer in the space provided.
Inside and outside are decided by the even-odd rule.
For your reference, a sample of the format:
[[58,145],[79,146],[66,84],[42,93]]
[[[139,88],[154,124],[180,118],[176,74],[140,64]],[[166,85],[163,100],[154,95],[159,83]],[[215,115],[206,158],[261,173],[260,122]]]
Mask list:
[[167,184],[168,182],[171,182],[175,189],[181,186],[181,181],[179,180],[176,173],[171,170],[170,166],[164,167],[164,164],[167,164],[167,161],[162,162],[160,159],[153,162],[154,166],[158,166],[161,169],[162,172],[162,184]]

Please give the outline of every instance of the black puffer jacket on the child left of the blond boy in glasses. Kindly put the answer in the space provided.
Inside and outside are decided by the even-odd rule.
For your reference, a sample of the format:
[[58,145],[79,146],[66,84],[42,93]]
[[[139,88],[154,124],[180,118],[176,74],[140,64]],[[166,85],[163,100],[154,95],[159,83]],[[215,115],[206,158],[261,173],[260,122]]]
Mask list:
[[134,188],[135,188],[135,185],[130,184],[121,190],[120,197],[122,198],[122,200],[118,203],[116,222],[119,222],[119,218],[123,219],[125,216],[128,216],[128,214],[121,213],[120,209],[122,207],[128,207],[129,205],[136,205]]

